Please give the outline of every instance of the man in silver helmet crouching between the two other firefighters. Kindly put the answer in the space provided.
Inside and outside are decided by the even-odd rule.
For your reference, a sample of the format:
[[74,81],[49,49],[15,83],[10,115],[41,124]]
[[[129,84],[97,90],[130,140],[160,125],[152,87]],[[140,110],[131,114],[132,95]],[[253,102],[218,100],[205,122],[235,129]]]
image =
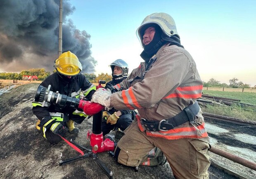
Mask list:
[[[112,70],[112,80],[109,81],[111,85],[117,85],[128,77],[129,68],[128,64],[124,60],[117,59],[109,66]],[[126,128],[134,120],[135,115],[136,112],[129,109],[116,110],[112,108],[109,111],[103,111],[103,135],[105,136],[111,131],[109,135],[113,136],[116,135],[116,132],[119,132],[119,137],[121,137],[123,135],[123,131],[126,130]],[[166,157],[159,148],[155,147],[149,151],[140,165],[156,166],[164,165],[165,163]]]

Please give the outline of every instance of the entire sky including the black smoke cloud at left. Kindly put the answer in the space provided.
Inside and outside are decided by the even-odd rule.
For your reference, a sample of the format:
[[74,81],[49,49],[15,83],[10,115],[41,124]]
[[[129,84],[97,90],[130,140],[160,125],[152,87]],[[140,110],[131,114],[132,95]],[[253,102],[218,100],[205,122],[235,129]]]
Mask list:
[[[58,52],[58,0],[45,0],[46,5],[34,5],[37,9],[44,7],[41,14],[33,14],[33,0],[18,2],[0,2],[0,72],[18,72],[26,67],[40,66],[52,71],[52,61]],[[26,19],[23,28],[20,28],[21,23],[16,25],[17,32],[29,29],[26,33],[12,33],[15,22],[10,16],[3,15],[7,12],[14,14],[7,5],[19,16],[27,13],[24,18],[19,17],[22,21]],[[63,0],[63,6],[63,48],[77,54],[83,62],[84,73],[110,74],[109,65],[116,59],[126,61],[129,72],[139,66],[143,61],[140,57],[143,49],[136,30],[147,15],[165,12],[175,20],[181,44],[192,55],[204,82],[214,78],[229,84],[230,79],[237,78],[251,86],[256,85],[255,0]],[[26,11],[26,7],[30,10]],[[42,19],[42,14],[52,15]],[[29,21],[28,16],[38,18]],[[49,21],[52,21],[51,26]],[[32,31],[31,24],[39,25],[32,26]],[[5,51],[14,43],[18,44],[18,54]],[[4,52],[12,54],[11,57],[4,56]]]

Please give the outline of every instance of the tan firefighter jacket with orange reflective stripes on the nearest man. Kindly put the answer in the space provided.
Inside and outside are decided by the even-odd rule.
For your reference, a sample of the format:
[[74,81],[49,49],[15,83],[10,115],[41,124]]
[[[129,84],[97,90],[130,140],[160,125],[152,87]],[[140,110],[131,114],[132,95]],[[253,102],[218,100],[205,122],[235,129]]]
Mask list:
[[[150,59],[154,62],[147,68],[142,62],[126,80],[115,87],[123,91],[110,96],[116,109],[136,109],[147,120],[167,120],[194,104],[201,97],[203,82],[191,55],[176,45],[163,45]],[[149,62],[150,62],[149,61]],[[150,64],[150,63],[149,63]],[[204,128],[201,109],[195,124],[185,122],[172,130],[148,131],[147,135],[165,139],[201,138],[209,142]],[[138,120],[141,131],[145,127]]]

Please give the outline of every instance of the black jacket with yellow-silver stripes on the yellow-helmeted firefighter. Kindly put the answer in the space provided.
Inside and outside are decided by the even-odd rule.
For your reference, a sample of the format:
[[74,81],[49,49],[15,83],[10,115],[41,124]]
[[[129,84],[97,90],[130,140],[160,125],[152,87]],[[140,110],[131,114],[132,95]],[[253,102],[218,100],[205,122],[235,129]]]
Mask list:
[[[90,83],[82,74],[76,75],[71,79],[68,79],[56,72],[47,77],[40,85],[44,87],[48,87],[48,85],[51,85],[50,91],[58,91],[59,94],[65,94],[69,97],[78,98],[82,93],[85,98],[89,100],[91,99],[92,94],[96,91],[95,85]],[[85,113],[83,111],[75,110],[70,106],[64,106],[61,108],[59,104],[50,104],[45,102],[45,106],[42,107],[42,103],[36,101],[32,102],[32,106],[33,114],[36,115],[39,120],[42,120],[43,118],[49,116],[57,117],[57,115],[53,115],[54,113],[58,115],[62,113],[73,113],[73,115],[85,116]],[[64,119],[61,121],[65,122],[67,120],[69,119]]]

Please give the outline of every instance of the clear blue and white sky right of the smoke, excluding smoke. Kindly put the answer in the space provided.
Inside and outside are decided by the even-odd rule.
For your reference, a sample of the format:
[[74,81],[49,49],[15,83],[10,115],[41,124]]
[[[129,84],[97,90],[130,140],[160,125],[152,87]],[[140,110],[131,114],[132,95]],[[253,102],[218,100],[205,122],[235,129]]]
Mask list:
[[129,70],[141,61],[136,30],[154,12],[175,20],[181,44],[192,55],[205,82],[214,78],[229,84],[238,78],[256,85],[255,0],[71,0],[76,11],[69,17],[90,35],[96,74],[123,59]]

